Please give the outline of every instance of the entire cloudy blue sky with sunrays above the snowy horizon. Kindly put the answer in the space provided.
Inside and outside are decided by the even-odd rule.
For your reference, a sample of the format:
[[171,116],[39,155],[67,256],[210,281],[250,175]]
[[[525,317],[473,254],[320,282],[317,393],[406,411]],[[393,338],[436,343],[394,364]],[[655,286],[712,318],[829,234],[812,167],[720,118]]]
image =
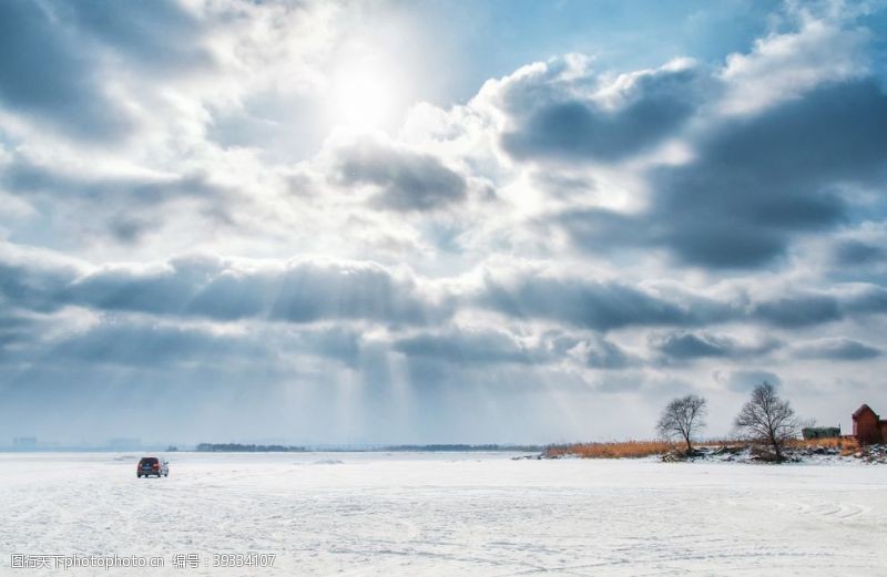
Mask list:
[[887,413],[885,2],[0,2],[0,446]]

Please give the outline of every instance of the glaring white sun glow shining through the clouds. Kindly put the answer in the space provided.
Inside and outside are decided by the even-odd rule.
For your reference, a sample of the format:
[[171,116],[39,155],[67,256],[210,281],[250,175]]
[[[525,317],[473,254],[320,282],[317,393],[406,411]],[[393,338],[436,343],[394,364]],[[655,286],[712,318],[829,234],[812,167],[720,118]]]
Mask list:
[[380,128],[391,120],[397,92],[384,66],[361,60],[340,68],[333,79],[335,121],[353,128]]

